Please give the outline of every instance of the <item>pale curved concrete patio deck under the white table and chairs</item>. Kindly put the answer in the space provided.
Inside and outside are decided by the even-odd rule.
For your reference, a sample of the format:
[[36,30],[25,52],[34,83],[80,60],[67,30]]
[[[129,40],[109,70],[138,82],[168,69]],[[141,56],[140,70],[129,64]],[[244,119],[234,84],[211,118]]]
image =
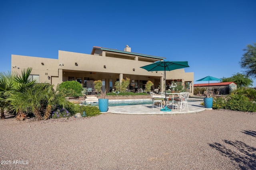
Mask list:
[[172,111],[161,111],[158,106],[155,106],[154,110],[152,109],[151,104],[143,105],[128,105],[128,106],[109,106],[108,111],[104,113],[116,113],[116,114],[152,114],[152,115],[170,115],[170,114],[180,114],[180,113],[198,113],[205,110],[204,106],[201,106],[200,103],[203,101],[202,98],[191,98],[192,101],[188,102],[188,110],[181,110],[179,108],[170,109]]

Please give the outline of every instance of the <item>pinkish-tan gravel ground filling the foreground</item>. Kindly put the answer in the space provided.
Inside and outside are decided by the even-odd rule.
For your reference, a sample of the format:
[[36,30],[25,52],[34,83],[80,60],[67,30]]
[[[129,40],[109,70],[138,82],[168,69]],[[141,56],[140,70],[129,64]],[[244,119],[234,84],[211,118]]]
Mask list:
[[[256,114],[0,120],[0,169],[256,169]],[[6,164],[9,163],[9,164]]]

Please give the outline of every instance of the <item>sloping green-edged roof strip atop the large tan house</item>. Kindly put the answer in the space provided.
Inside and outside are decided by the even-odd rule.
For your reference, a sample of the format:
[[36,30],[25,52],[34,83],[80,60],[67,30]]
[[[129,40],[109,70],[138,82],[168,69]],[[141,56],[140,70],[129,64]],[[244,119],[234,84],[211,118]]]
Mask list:
[[166,59],[165,57],[157,57],[157,56],[153,56],[153,55],[133,53],[133,52],[128,52],[128,51],[122,51],[122,50],[117,50],[117,49],[109,49],[109,48],[97,47],[97,46],[94,46],[92,48],[91,55],[94,55],[95,49],[100,49],[100,50],[103,50],[103,51],[110,51],[110,52],[115,52],[115,53],[123,53],[123,54],[128,54],[128,55],[136,55],[136,56],[140,56],[140,57],[148,57],[148,58],[152,58],[152,59],[160,59],[160,60]]

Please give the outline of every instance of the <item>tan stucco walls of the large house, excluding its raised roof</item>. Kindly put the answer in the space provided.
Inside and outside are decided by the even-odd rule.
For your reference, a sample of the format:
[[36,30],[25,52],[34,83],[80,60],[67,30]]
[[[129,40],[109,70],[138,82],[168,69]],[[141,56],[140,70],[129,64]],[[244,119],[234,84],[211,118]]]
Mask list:
[[[12,71],[21,73],[23,68],[32,67],[31,74],[39,75],[40,82],[50,82],[55,86],[62,81],[67,81],[68,76],[74,76],[74,79],[89,77],[94,80],[101,80],[104,78],[106,80],[106,88],[108,88],[108,80],[112,79],[114,86],[116,79],[120,78],[121,75],[123,78],[151,80],[155,87],[158,86],[161,80],[163,81],[164,75],[161,74],[163,71],[158,71],[157,73],[148,72],[140,68],[141,66],[151,64],[150,62],[106,57],[105,53],[102,54],[103,56],[58,51],[58,59],[12,55],[12,66],[16,66],[16,68],[12,68]],[[44,65],[41,63],[44,63]],[[64,65],[60,66],[60,63]],[[104,68],[104,65],[106,68]],[[135,71],[133,71],[133,68],[135,68]],[[45,75],[46,73],[48,75]],[[50,80],[48,80],[48,76],[50,76]],[[166,80],[171,79],[182,79],[182,82],[192,82],[193,87],[194,73],[185,72],[184,69],[166,71]],[[190,92],[193,93],[191,90]]]

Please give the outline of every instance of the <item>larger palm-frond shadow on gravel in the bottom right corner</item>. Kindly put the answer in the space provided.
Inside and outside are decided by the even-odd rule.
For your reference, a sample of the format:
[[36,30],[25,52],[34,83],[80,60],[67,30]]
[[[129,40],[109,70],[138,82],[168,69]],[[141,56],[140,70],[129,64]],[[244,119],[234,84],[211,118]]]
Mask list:
[[224,142],[228,144],[228,147],[220,143],[209,144],[209,146],[230,158],[235,167],[242,170],[256,170],[256,148],[250,147],[241,141],[224,140]]

